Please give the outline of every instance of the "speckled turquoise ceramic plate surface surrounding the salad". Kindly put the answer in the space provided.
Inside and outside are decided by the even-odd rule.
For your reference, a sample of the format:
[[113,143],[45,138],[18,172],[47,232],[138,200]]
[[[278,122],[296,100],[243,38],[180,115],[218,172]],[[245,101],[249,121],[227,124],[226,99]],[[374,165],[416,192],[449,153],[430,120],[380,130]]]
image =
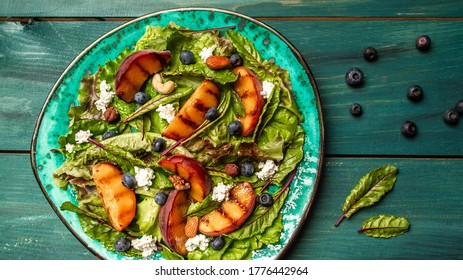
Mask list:
[[125,48],[135,45],[144,34],[146,26],[166,26],[169,22],[197,30],[235,26],[235,30],[254,43],[264,59],[275,60],[290,72],[293,94],[304,116],[304,159],[298,167],[296,179],[292,182],[290,194],[282,210],[284,230],[280,244],[253,254],[254,259],[281,258],[304,224],[320,179],[323,158],[321,105],[315,80],[296,48],[271,27],[241,14],[201,8],[161,11],[127,22],[87,47],[59,77],[37,121],[31,154],[37,181],[59,218],[84,246],[102,259],[122,258],[89,238],[82,231],[74,213],[59,209],[65,201],[75,202],[75,196],[71,188],[63,191],[53,185],[52,173],[63,163],[64,158],[51,150],[57,147],[58,137],[67,133],[67,112],[69,106],[77,102],[77,90],[82,77],[87,73],[94,73],[98,65],[104,65]]

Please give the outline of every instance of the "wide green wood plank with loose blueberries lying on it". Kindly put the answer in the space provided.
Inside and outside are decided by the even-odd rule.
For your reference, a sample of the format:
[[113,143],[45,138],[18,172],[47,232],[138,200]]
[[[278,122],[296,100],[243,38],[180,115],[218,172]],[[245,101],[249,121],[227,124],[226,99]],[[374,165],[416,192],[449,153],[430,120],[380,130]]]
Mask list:
[[[0,23],[0,150],[27,150],[41,106],[67,64],[93,40],[121,22],[36,22],[24,27]],[[320,88],[330,155],[463,155],[463,122],[446,125],[441,114],[463,99],[463,25],[459,21],[266,21],[286,36],[311,67]],[[428,53],[414,48],[429,34]],[[379,50],[377,62],[362,49]],[[352,89],[344,74],[357,66],[367,75]],[[406,89],[419,84],[422,102]],[[352,102],[365,114],[353,118]],[[405,120],[416,121],[414,139],[400,134]],[[12,141],[14,139],[14,141]]]

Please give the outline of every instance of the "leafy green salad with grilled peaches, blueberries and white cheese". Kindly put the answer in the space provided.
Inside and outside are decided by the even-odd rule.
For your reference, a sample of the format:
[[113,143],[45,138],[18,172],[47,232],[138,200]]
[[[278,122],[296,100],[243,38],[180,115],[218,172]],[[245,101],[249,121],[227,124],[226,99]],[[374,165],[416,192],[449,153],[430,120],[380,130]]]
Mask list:
[[289,73],[233,28],[147,26],[80,84],[54,152],[83,231],[128,258],[251,259],[304,157]]

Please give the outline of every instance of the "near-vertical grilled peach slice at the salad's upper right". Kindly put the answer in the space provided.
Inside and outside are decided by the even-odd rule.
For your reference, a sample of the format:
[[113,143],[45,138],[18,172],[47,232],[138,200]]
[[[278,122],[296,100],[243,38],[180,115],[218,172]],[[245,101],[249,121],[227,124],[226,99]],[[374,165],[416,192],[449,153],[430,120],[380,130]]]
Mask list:
[[260,94],[262,82],[245,66],[235,67],[233,74],[238,75],[238,79],[233,83],[233,90],[240,97],[245,112],[239,119],[243,125],[241,135],[249,136],[254,132],[265,105],[265,99]]

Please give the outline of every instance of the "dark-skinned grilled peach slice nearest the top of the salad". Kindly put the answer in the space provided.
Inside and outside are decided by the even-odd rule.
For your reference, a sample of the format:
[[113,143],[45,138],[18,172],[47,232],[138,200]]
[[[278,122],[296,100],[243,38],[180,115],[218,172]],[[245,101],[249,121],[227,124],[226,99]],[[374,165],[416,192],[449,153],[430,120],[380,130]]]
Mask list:
[[131,53],[119,66],[114,79],[116,95],[125,102],[132,102],[145,81],[164,69],[170,61],[170,51],[141,50]]

